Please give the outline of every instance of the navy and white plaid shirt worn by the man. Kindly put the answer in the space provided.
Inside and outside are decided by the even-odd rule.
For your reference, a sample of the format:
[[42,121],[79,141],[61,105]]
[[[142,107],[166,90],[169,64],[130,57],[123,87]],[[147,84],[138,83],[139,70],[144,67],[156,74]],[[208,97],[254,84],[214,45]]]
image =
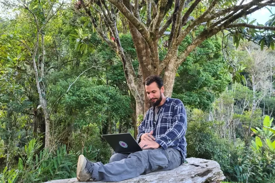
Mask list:
[[166,102],[159,111],[159,117],[156,120],[156,126],[153,129],[154,108],[151,107],[145,114],[144,120],[138,127],[137,141],[144,133],[153,131],[156,142],[163,149],[172,147],[181,152],[182,157],[186,158],[186,139],[187,117],[183,103],[179,99],[167,97]]

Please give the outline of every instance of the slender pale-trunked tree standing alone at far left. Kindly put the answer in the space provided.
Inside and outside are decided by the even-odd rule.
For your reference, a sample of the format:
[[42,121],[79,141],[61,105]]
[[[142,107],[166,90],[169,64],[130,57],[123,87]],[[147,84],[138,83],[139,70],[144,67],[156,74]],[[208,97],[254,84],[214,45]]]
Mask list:
[[1,1],[4,5],[9,5],[13,8],[19,8],[26,10],[27,12],[22,11],[22,13],[27,13],[31,15],[32,20],[35,23],[35,29],[33,29],[32,34],[34,34],[35,38],[32,40],[30,44],[22,39],[18,39],[24,47],[28,50],[31,60],[33,63],[33,69],[35,71],[35,81],[36,87],[39,94],[39,102],[41,106],[44,118],[45,118],[45,148],[50,148],[50,115],[47,108],[47,99],[46,99],[46,86],[43,83],[43,78],[45,74],[45,31],[46,25],[49,21],[56,15],[56,13],[63,6],[62,3],[54,2],[54,1],[18,1],[17,4],[12,4],[9,1]]

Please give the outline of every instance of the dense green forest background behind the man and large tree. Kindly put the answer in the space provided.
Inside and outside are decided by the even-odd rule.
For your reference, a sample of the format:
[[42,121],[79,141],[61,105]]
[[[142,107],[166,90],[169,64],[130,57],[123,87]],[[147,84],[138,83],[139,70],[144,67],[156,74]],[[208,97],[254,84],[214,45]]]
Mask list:
[[[35,2],[31,6],[41,8]],[[101,135],[137,135],[135,99],[123,64],[86,16],[71,5],[65,7],[46,23],[39,17],[45,27],[38,45],[28,10],[19,8],[13,18],[0,19],[2,183],[75,177],[79,154],[108,162],[112,149]],[[120,18],[122,47],[138,70],[132,37]],[[236,40],[225,39],[221,33],[202,42],[176,74],[172,97],[181,99],[188,110],[188,157],[217,161],[227,181],[273,183],[274,46],[261,51],[259,45],[240,39],[236,48]],[[187,36],[179,52],[191,41],[192,35]],[[163,59],[167,49],[161,44]],[[49,112],[50,149],[44,149],[40,97]]]

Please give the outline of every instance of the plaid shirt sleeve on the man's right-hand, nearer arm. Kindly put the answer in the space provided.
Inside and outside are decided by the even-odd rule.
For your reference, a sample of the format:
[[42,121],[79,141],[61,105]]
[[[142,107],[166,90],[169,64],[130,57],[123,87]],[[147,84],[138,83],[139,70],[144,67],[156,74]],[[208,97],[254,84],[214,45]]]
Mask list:
[[169,128],[169,130],[167,130],[164,135],[160,136],[160,138],[156,139],[155,141],[160,144],[163,149],[167,149],[168,147],[178,144],[186,133],[186,111],[180,100],[174,108],[173,115],[173,126]]

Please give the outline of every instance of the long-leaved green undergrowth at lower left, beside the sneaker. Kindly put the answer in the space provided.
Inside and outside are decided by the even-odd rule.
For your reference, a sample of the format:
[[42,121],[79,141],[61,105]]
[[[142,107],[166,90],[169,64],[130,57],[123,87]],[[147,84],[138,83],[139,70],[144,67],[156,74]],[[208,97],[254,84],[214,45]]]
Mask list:
[[[17,169],[6,171],[5,168],[0,174],[2,183],[38,183],[76,177],[76,165],[81,151],[67,152],[66,146],[60,145],[56,152],[45,149],[38,152],[41,145],[35,139],[25,145],[25,154],[19,158]],[[85,147],[82,154],[89,160],[97,156],[97,152],[92,151],[92,146]]]

